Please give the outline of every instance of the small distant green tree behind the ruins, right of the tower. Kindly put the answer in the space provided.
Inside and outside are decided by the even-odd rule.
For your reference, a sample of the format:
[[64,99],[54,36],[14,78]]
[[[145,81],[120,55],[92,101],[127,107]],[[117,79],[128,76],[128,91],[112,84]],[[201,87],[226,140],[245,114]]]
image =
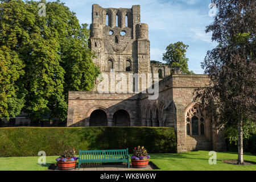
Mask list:
[[163,54],[163,60],[171,67],[180,67],[183,73],[193,74],[188,70],[188,58],[185,57],[188,45],[183,42],[176,42],[166,47],[166,53]]

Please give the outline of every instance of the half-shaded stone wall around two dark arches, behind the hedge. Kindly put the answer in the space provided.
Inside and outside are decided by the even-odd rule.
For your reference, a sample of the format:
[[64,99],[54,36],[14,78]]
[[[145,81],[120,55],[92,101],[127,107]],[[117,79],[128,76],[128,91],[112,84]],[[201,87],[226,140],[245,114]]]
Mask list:
[[130,126],[140,126],[139,108],[138,94],[69,92],[67,126],[90,126],[90,115],[98,109],[106,113],[108,126],[113,126],[113,115],[118,110],[129,113]]

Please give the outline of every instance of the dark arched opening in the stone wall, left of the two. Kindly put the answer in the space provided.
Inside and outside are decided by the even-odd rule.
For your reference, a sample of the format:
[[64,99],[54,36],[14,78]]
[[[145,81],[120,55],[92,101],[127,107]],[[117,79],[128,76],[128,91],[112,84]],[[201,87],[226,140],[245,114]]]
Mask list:
[[90,126],[108,126],[108,117],[104,110],[96,109],[90,114]]

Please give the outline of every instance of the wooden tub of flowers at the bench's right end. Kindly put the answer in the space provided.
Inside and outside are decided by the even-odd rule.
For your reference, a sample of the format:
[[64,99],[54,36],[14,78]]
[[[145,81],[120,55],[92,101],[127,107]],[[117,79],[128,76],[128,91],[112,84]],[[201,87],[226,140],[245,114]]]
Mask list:
[[134,168],[147,167],[148,159],[150,156],[147,154],[146,148],[143,146],[134,147],[133,156],[131,156],[131,164]]

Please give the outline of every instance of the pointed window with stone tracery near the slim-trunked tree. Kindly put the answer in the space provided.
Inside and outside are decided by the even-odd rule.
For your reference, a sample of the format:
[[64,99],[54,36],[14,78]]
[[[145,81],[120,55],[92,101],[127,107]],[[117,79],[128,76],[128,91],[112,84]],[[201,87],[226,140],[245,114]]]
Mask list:
[[186,114],[186,133],[187,135],[204,135],[205,118],[199,105],[191,107]]

